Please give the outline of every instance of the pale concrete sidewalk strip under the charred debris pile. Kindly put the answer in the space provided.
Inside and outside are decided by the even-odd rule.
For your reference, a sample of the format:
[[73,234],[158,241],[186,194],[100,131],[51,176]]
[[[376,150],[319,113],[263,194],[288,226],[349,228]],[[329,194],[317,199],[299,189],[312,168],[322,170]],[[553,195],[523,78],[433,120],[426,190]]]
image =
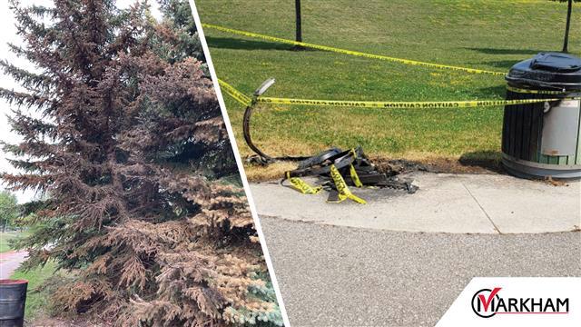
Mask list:
[[[410,173],[419,191],[357,189],[368,204],[326,203],[278,182],[251,184],[261,216],[400,232],[555,233],[581,228],[581,182],[503,174]],[[309,181],[309,180],[307,180]],[[312,181],[309,181],[312,182]]]

